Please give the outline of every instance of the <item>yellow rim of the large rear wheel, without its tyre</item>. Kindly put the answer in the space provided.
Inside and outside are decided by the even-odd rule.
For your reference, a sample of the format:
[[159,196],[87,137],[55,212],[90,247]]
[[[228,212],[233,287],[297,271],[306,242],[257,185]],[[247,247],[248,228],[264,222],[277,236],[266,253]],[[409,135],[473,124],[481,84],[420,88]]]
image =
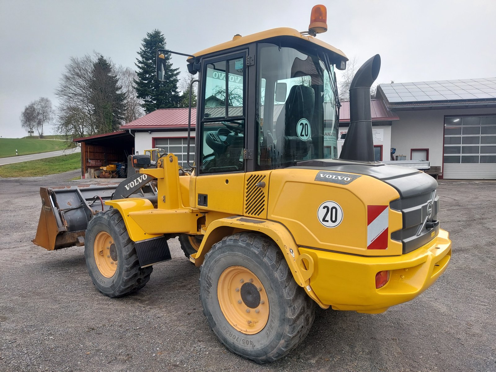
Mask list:
[[226,320],[245,334],[260,332],[269,320],[269,299],[262,282],[243,266],[231,266],[220,275],[217,298]]

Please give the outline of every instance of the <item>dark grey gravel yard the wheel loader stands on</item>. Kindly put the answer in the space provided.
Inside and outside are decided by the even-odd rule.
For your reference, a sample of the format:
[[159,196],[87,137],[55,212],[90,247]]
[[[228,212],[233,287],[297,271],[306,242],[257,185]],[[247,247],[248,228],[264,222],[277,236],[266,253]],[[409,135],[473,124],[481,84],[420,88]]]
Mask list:
[[257,365],[210,331],[177,241],[123,299],[96,290],[83,248],[31,243],[39,186],[77,175],[0,179],[1,371],[496,371],[496,182],[440,181],[453,257],[428,291],[377,315],[317,310],[299,348]]

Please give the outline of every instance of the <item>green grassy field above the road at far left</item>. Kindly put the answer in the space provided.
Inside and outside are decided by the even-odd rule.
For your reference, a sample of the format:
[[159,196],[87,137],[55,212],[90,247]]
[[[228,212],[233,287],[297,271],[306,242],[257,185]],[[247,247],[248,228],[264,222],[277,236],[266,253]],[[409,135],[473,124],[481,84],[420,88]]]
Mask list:
[[19,155],[38,154],[63,150],[65,141],[38,138],[0,138],[0,158],[15,156],[15,149]]

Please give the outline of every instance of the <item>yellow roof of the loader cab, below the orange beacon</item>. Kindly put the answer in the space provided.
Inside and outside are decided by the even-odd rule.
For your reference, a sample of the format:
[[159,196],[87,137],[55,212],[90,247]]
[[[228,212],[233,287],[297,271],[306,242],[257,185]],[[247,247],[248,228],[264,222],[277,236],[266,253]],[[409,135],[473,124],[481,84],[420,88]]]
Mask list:
[[[289,27],[279,27],[279,28],[273,28],[267,31],[262,31],[262,32],[257,32],[255,34],[247,35],[247,36],[235,36],[233,40],[227,41],[225,43],[203,49],[202,51],[199,51],[197,53],[193,53],[194,57],[202,57],[205,55],[209,55],[212,53],[220,52],[223,50],[227,49],[232,49],[236,48],[242,45],[250,44],[253,42],[257,41],[262,41],[274,37],[294,37],[298,38],[299,40],[306,40],[309,41],[310,43],[313,43],[321,48],[324,48],[335,55],[341,57],[339,60],[341,61],[348,61],[348,58],[346,55],[340,51],[337,48],[334,48],[332,45],[327,44],[323,42],[322,40],[319,40],[313,36],[310,35],[302,35],[299,31],[295,30],[294,28],[289,28]],[[187,59],[188,62],[192,62],[191,58]]]

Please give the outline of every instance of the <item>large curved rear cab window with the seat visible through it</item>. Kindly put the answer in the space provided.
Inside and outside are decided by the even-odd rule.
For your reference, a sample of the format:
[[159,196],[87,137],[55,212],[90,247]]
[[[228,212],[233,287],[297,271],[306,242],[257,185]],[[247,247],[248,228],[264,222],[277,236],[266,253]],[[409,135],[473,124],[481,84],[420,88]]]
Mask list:
[[337,158],[339,102],[328,58],[315,49],[257,48],[258,169]]

